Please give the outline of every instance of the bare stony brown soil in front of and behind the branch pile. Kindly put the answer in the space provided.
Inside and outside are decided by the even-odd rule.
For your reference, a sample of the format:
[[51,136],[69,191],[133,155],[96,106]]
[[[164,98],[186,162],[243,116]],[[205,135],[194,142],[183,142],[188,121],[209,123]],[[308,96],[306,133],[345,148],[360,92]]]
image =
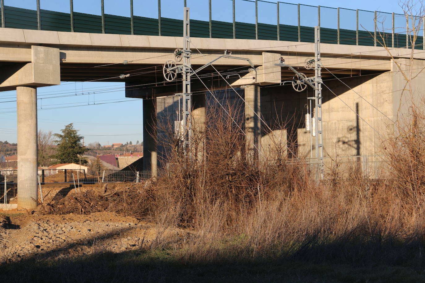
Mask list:
[[[124,184],[122,184],[124,186]],[[78,188],[77,188],[78,190]],[[99,192],[100,185],[80,188]],[[74,188],[43,188],[45,203],[77,196]],[[158,229],[156,224],[107,211],[47,214],[42,205],[35,211],[0,210],[0,265],[25,258],[62,258],[99,252],[124,252],[150,247],[154,241],[179,241],[183,230]]]

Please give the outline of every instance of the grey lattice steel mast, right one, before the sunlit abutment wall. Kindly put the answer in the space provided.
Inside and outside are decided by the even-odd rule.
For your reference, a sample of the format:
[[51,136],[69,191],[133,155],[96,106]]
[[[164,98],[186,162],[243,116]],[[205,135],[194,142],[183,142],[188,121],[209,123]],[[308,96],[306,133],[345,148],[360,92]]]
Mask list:
[[316,157],[320,166],[320,179],[324,178],[323,124],[322,124],[322,63],[320,62],[320,28],[314,27],[314,101],[316,123]]

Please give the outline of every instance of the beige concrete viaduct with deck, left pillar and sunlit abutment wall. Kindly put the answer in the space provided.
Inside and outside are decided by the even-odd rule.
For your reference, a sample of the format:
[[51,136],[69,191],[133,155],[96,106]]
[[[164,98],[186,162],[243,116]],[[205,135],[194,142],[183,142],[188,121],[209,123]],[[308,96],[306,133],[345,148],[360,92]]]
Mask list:
[[[157,116],[175,102],[176,88],[181,90],[178,81],[164,82],[162,64],[173,60],[173,52],[181,48],[182,42],[182,37],[174,36],[0,28],[0,91],[17,90],[19,209],[31,209],[37,204],[37,87],[58,85],[61,81],[124,81],[127,97],[150,98],[143,103],[144,166],[155,169],[156,144],[150,137],[152,125]],[[299,154],[310,156],[310,133],[304,129],[303,113],[306,97],[312,96],[312,90],[295,92],[291,86],[280,86],[282,81],[291,80],[293,73],[274,64],[283,57],[286,64],[310,74],[312,70],[303,68],[306,59],[314,57],[314,44],[193,37],[191,46],[195,66],[210,62],[224,54],[224,50],[232,51],[232,56],[249,58],[258,67],[255,80],[246,61],[223,58],[214,66],[224,73],[234,68],[245,71],[240,73],[241,78],[231,76],[229,80],[233,87],[246,86],[244,91],[238,89],[249,106],[245,108],[246,118],[253,116],[253,109],[272,125],[275,118],[284,119],[296,113],[297,118],[291,122],[296,125],[286,129],[284,142],[296,140]],[[326,68],[323,81],[332,90],[323,89],[326,156],[374,154],[382,140],[377,131],[385,134],[397,113],[408,111],[400,104],[404,81],[394,61],[408,60],[411,49],[391,48],[391,55],[379,46],[323,43],[321,54]],[[420,51],[415,54],[414,65],[418,71],[425,67]],[[204,70],[204,74],[211,72],[214,72],[211,67]],[[130,76],[120,78],[121,74]],[[424,75],[419,75],[414,82],[415,89],[420,91],[424,80]],[[208,76],[204,76],[203,81],[212,87],[223,84]],[[206,89],[193,78],[192,90]],[[193,99],[194,110],[201,116],[205,115],[202,95],[195,95],[197,98]],[[249,134],[261,133],[253,139],[266,151],[270,146],[269,135],[278,134],[281,129],[269,133],[261,130],[258,121],[254,123],[256,130]]]

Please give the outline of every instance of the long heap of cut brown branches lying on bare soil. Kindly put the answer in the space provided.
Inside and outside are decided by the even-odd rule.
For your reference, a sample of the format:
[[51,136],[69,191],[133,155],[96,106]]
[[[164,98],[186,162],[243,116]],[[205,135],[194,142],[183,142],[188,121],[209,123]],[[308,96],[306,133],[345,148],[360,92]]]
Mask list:
[[116,187],[113,184],[105,184],[100,193],[88,190],[68,195],[48,203],[45,210],[51,214],[85,215],[108,211],[142,219],[150,215],[154,203],[155,194],[143,185]]

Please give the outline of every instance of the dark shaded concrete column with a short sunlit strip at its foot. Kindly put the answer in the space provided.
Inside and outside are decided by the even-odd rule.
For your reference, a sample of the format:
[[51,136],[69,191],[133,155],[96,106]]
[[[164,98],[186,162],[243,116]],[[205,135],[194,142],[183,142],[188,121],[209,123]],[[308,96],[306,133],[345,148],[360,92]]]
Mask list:
[[152,177],[158,175],[156,152],[156,98],[143,99],[143,170],[151,170]]

